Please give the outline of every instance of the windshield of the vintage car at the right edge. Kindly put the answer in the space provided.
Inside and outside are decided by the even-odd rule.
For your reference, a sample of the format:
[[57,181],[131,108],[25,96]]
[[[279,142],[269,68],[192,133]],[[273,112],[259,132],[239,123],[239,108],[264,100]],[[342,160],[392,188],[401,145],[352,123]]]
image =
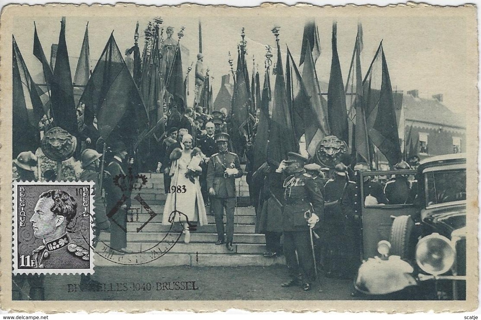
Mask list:
[[466,169],[426,172],[425,182],[428,207],[466,200]]

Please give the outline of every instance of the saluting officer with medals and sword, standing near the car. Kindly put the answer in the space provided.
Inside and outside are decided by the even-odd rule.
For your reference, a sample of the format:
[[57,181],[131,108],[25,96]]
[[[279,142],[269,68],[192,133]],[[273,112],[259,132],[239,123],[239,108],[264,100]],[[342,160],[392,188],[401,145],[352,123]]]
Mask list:
[[288,160],[283,160],[276,170],[290,174],[283,183],[282,231],[284,256],[291,279],[281,285],[301,285],[304,291],[310,290],[316,278],[310,233],[324,211],[322,192],[312,176],[304,171],[306,162],[302,155],[289,152]]

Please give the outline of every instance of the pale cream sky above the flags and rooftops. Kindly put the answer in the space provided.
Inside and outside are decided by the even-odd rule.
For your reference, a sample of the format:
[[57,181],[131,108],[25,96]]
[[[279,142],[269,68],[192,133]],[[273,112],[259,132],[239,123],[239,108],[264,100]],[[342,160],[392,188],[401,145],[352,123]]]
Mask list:
[[[321,11],[322,12],[322,11]],[[286,44],[289,46],[294,61],[299,63],[302,35],[305,18],[295,17],[258,17],[255,14],[247,16],[168,16],[162,10],[152,11],[152,16],[67,16],[66,42],[69,56],[78,57],[85,26],[89,22],[90,57],[99,59],[101,52],[111,34],[122,52],[133,45],[136,22],[140,27],[140,49],[143,48],[142,32],[154,16],[162,16],[162,27],[173,26],[174,37],[181,26],[185,27],[181,44],[190,51],[189,57],[182,57],[184,73],[191,62],[196,62],[199,48],[198,22],[202,22],[202,42],[204,66],[210,69],[214,97],[220,87],[222,74],[230,72],[228,65],[228,52],[232,54],[234,64],[237,61],[237,44],[241,40],[241,29],[245,28],[247,40],[247,63],[249,75],[252,76],[253,59],[255,70],[259,71],[261,86],[264,79],[264,65],[266,45],[273,47],[276,62],[275,37],[271,32],[274,26],[280,26],[280,49],[282,63],[285,68]],[[407,17],[407,16],[366,16],[358,17],[327,17],[316,16],[318,25],[321,55],[316,63],[316,71],[320,81],[329,81],[331,62],[331,30],[333,21],[337,21],[337,45],[341,62],[343,81],[347,80],[349,66],[354,49],[354,40],[357,33],[357,24],[363,26],[364,50],[361,53],[362,73],[366,74],[369,64],[383,40],[383,48],[388,63],[393,90],[404,92],[412,89],[419,90],[421,98],[431,98],[435,94],[443,94],[444,104],[453,111],[462,110],[466,101],[464,88],[467,85],[462,75],[466,72],[466,24],[462,17]],[[38,37],[43,49],[50,59],[52,43],[58,43],[61,16],[36,17]],[[41,82],[36,77],[41,72],[38,60],[33,56],[33,19],[22,17],[15,20],[13,35],[22,52],[27,67],[34,76],[34,80]],[[95,67],[92,62],[92,70]],[[75,74],[76,61],[71,61],[72,77]],[[235,65],[234,65],[235,69]],[[302,67],[301,67],[302,72]],[[456,81],[454,80],[456,79]],[[189,104],[193,101],[194,72],[190,73]],[[271,76],[271,84],[274,80]],[[472,84],[471,84],[472,85]],[[326,92],[327,88],[322,88]],[[326,90],[326,91],[325,91]]]

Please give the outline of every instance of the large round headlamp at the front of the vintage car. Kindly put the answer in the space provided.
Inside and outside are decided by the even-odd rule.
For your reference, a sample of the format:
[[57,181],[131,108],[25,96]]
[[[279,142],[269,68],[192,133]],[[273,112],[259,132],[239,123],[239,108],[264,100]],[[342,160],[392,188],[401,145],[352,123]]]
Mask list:
[[422,271],[434,276],[448,271],[455,260],[455,249],[443,235],[433,233],[419,240],[416,262]]

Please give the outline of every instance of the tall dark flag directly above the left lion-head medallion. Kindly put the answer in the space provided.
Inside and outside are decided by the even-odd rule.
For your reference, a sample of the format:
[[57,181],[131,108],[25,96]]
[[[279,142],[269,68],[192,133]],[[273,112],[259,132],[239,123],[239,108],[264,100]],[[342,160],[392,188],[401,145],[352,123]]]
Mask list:
[[68,61],[67,44],[65,42],[65,17],[62,17],[57,59],[51,83],[51,111],[56,125],[77,135],[77,113],[74,101],[74,86]]

